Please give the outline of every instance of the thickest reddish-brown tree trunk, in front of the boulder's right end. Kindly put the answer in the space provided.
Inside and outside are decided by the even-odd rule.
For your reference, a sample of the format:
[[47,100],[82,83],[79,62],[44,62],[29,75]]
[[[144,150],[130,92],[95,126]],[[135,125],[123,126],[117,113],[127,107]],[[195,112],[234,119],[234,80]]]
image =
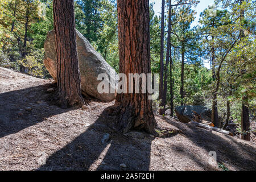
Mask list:
[[[148,0],[118,0],[119,73],[150,73],[150,31]],[[127,79],[127,88],[129,79]],[[118,129],[131,129],[155,134],[156,121],[148,93],[117,94]]]

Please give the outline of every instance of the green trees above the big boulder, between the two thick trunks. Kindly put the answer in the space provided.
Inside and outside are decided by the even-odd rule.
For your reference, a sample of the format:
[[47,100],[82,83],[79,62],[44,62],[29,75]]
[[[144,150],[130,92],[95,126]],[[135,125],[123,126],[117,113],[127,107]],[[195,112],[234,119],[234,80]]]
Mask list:
[[76,28],[118,72],[117,4],[115,0],[75,1]]

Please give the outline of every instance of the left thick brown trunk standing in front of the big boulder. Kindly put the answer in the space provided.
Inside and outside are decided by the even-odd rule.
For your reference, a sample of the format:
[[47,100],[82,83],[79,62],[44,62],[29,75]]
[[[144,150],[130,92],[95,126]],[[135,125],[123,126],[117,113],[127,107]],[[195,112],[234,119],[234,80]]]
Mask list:
[[53,16],[57,60],[58,104],[84,105],[81,96],[81,78],[77,56],[73,0],[54,0]]

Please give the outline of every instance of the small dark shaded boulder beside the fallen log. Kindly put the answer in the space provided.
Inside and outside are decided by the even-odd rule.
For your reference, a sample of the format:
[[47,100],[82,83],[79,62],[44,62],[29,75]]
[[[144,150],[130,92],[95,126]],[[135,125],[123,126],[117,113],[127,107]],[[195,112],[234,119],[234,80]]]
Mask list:
[[189,123],[200,117],[205,121],[210,121],[212,111],[204,106],[179,106],[175,108],[175,113],[180,122]]

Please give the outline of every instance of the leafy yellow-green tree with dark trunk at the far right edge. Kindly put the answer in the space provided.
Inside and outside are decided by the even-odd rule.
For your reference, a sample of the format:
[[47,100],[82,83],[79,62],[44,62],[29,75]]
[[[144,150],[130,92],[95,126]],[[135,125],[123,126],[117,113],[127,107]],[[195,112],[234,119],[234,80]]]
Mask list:
[[[231,80],[236,86],[234,97],[242,101],[241,138],[250,140],[249,101],[255,98],[255,1],[252,0],[216,0],[222,9],[229,9],[232,14],[232,35],[239,32],[240,38],[230,52],[229,65],[234,72]],[[255,105],[254,105],[255,107]]]

